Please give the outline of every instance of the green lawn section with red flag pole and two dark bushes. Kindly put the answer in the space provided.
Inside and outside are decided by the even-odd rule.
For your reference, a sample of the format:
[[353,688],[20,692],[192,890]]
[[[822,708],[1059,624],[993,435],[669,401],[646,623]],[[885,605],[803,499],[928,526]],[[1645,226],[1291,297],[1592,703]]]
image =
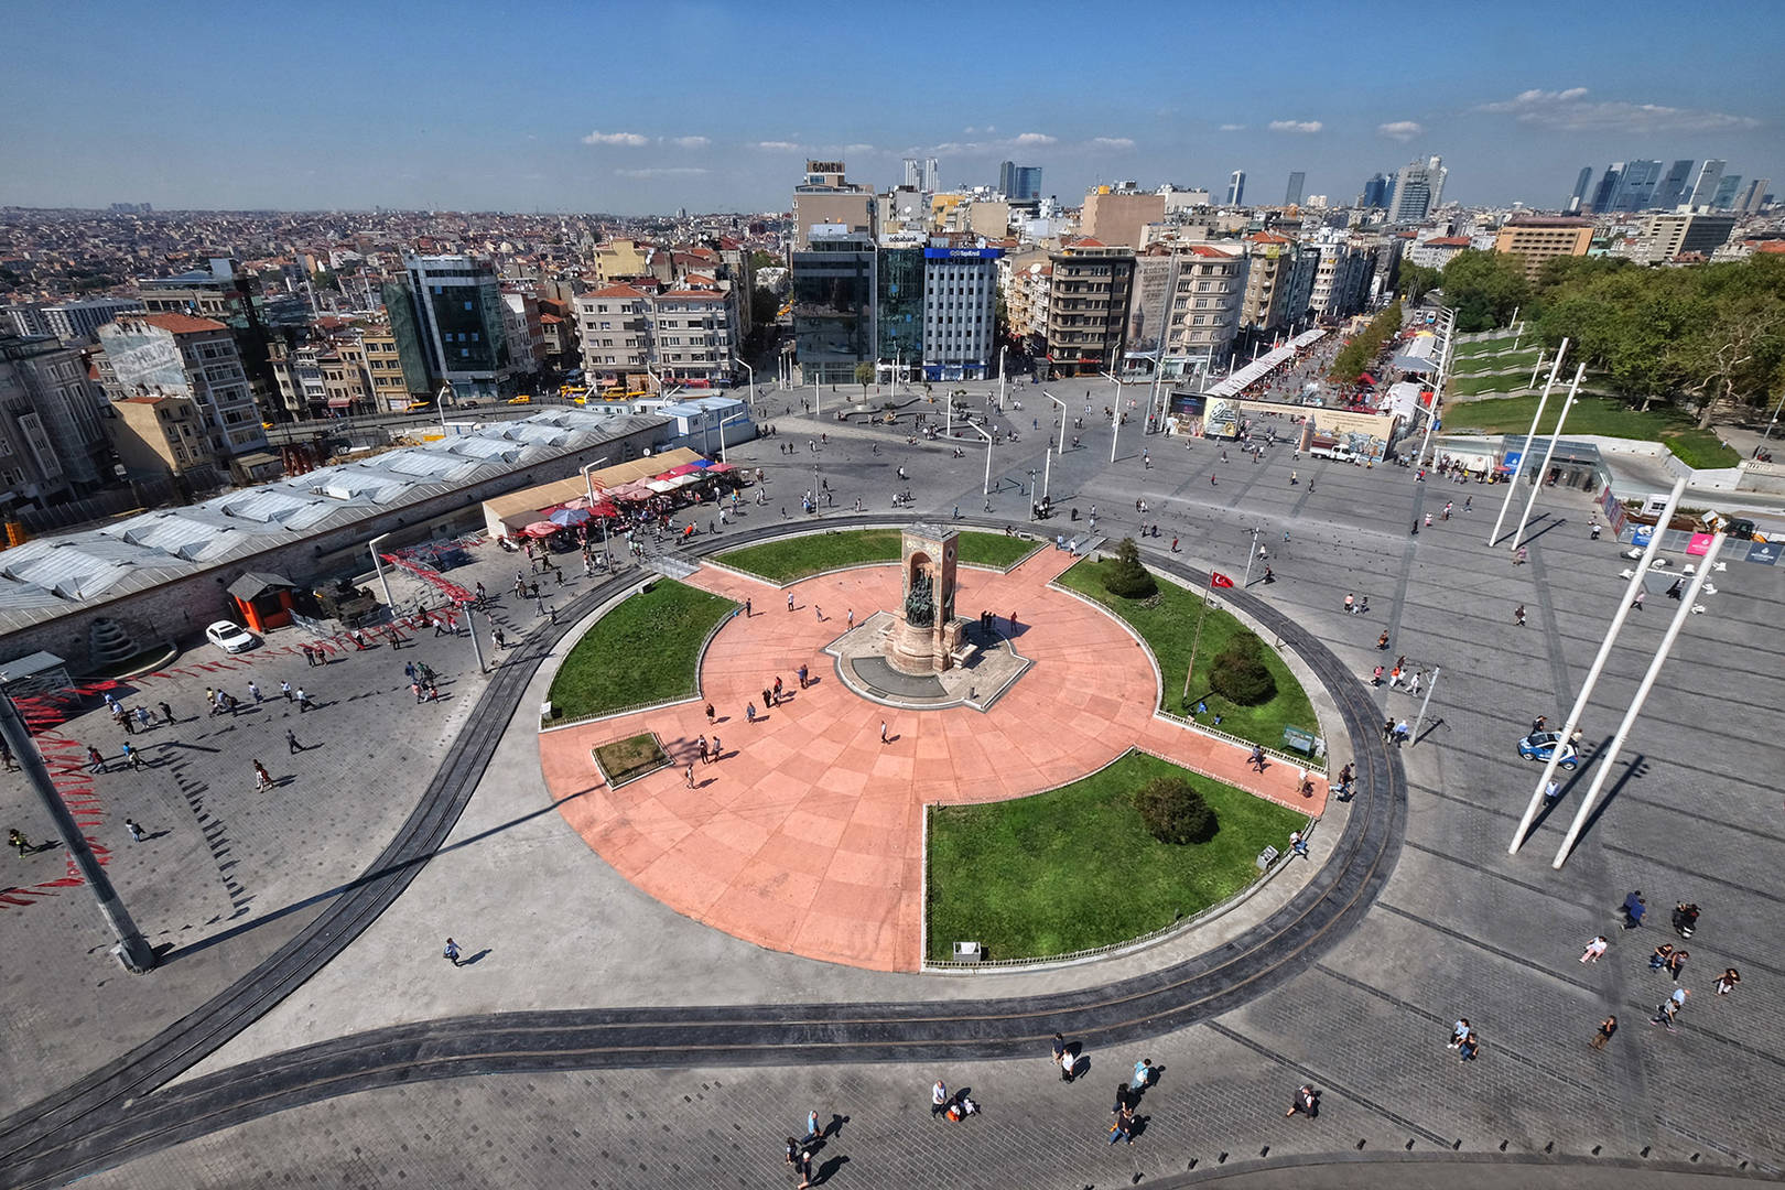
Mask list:
[[[1164,674],[1166,689],[1160,705],[1176,714],[1187,714],[1198,699],[1207,699],[1212,712],[1203,723],[1212,723],[1214,714],[1221,715],[1221,730],[1241,739],[1269,748],[1283,746],[1283,728],[1296,726],[1319,735],[1319,723],[1314,719],[1314,705],[1296,676],[1289,673],[1283,658],[1269,648],[1266,640],[1264,664],[1276,680],[1276,696],[1258,707],[1235,707],[1208,689],[1210,662],[1233,633],[1244,626],[1226,612],[1210,610],[1203,617],[1201,640],[1196,646],[1196,676],[1191,682],[1189,707],[1183,703],[1183,671],[1191,664],[1191,635],[1196,630],[1196,612],[1201,592],[1185,591],[1176,583],[1158,580],[1158,594],[1150,599],[1123,599],[1103,589],[1101,569],[1108,560],[1083,560],[1060,574],[1060,585],[1091,596],[1103,607],[1121,616],[1141,633],[1148,648],[1153,649],[1158,669]],[[1233,574],[1235,582],[1239,574]],[[1216,598],[1219,599],[1219,591]],[[1139,664],[1139,662],[1135,662]]]

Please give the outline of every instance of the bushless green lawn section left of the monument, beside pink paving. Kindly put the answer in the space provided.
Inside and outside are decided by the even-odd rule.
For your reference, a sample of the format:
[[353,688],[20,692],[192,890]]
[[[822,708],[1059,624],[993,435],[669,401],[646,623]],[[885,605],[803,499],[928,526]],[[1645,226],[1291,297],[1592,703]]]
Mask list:
[[566,719],[694,694],[694,664],[712,626],[737,605],[669,578],[619,603],[569,651],[552,680]]

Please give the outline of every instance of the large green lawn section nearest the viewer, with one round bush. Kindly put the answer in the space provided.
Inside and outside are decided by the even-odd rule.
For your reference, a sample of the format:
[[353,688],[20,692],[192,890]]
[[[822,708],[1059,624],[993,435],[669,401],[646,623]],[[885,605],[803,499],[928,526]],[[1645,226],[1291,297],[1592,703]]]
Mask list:
[[[1153,839],[1130,797],[1182,776],[1216,812],[1205,844]],[[928,947],[980,942],[987,958],[1041,958],[1137,938],[1226,901],[1258,878],[1258,851],[1289,851],[1305,815],[1128,753],[1101,773],[1034,797],[930,810]]]

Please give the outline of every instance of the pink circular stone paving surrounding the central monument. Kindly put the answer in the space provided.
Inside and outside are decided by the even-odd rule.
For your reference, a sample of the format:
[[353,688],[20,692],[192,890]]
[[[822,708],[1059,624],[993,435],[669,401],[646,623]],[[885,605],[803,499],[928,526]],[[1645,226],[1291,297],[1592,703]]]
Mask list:
[[[1073,558],[1042,550],[1010,574],[960,567],[957,610],[1014,612],[1017,651],[1034,665],[992,707],[907,712],[869,703],[837,680],[821,649],[900,599],[898,567],[819,574],[793,587],[702,567],[696,587],[755,605],[712,639],[703,698],[539,737],[541,765],[564,819],[603,860],[680,913],[739,938],[809,958],[916,971],[923,917],[923,806],[1021,797],[1073,781],[1139,746],[1308,814],[1296,769],[1246,767],[1246,751],[1153,715],[1146,653],[1112,616],[1048,587]],[[794,610],[785,596],[794,594]],[[823,619],[818,612],[823,610]],[[798,689],[796,671],[812,674]],[[787,696],[762,714],[776,674]],[[705,703],[718,712],[709,728]],[[744,721],[744,703],[757,721]],[[880,724],[891,742],[880,742]],[[589,749],[655,731],[677,767],[607,789]],[[716,764],[684,765],[719,737]]]

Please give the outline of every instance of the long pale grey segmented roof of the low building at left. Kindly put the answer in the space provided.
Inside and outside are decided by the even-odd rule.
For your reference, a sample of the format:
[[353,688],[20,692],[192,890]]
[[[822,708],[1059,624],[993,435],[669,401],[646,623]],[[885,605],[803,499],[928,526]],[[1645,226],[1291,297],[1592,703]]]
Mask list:
[[93,599],[148,591],[660,423],[580,409],[541,412],[200,505],[145,512],[102,530],[29,541],[0,553],[0,632],[30,628]]

